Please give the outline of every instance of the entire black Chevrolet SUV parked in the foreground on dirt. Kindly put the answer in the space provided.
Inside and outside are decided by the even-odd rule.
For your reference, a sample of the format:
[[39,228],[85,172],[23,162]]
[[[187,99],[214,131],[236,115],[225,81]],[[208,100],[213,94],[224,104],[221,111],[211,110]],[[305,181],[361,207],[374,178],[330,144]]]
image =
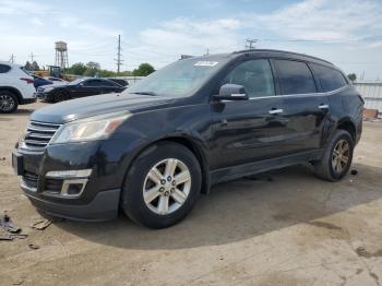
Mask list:
[[121,208],[163,228],[214,183],[310,163],[342,179],[362,129],[363,102],[332,63],[246,50],[179,60],[121,94],[31,116],[13,167],[51,215],[104,221]]

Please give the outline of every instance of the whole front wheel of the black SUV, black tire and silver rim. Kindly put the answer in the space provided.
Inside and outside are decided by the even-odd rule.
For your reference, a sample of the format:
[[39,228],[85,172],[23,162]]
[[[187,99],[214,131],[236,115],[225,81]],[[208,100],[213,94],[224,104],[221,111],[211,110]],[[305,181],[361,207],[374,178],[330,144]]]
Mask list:
[[[176,166],[174,172],[171,166]],[[171,172],[174,176],[168,178]],[[179,183],[187,178],[188,181]],[[183,145],[160,142],[144,151],[128,170],[121,208],[132,221],[146,227],[169,227],[191,212],[201,184],[201,167],[193,153]]]

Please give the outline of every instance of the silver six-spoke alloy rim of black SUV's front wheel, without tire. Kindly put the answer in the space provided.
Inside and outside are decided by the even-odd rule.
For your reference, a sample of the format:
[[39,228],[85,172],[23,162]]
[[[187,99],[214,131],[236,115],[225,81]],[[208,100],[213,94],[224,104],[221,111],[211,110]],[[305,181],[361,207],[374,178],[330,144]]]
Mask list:
[[143,184],[146,206],[159,215],[168,215],[181,207],[190,193],[191,174],[179,159],[167,158],[151,168]]

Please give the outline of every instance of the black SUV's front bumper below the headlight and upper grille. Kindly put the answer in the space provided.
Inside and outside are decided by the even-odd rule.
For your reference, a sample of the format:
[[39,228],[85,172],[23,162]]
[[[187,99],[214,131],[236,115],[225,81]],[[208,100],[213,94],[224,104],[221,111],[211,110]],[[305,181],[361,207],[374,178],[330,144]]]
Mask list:
[[[131,160],[123,144],[120,140],[58,144],[41,153],[15,148],[12,165],[21,176],[21,188],[37,208],[71,219],[109,221],[118,216],[120,188]],[[77,196],[62,194],[68,191],[65,183],[79,183],[79,177],[48,176],[51,171],[86,169],[92,172],[82,178],[86,183]]]

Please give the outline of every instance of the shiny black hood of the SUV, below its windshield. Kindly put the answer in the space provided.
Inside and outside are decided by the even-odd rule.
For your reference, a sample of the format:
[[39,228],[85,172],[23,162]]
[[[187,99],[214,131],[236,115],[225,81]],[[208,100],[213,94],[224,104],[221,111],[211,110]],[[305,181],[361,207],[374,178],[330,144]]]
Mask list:
[[138,112],[150,110],[151,108],[163,105],[164,107],[171,102],[171,98],[135,95],[135,94],[104,94],[79,99],[72,99],[43,107],[34,111],[31,120],[65,123],[76,119],[92,116],[106,115],[109,112],[131,111]]

